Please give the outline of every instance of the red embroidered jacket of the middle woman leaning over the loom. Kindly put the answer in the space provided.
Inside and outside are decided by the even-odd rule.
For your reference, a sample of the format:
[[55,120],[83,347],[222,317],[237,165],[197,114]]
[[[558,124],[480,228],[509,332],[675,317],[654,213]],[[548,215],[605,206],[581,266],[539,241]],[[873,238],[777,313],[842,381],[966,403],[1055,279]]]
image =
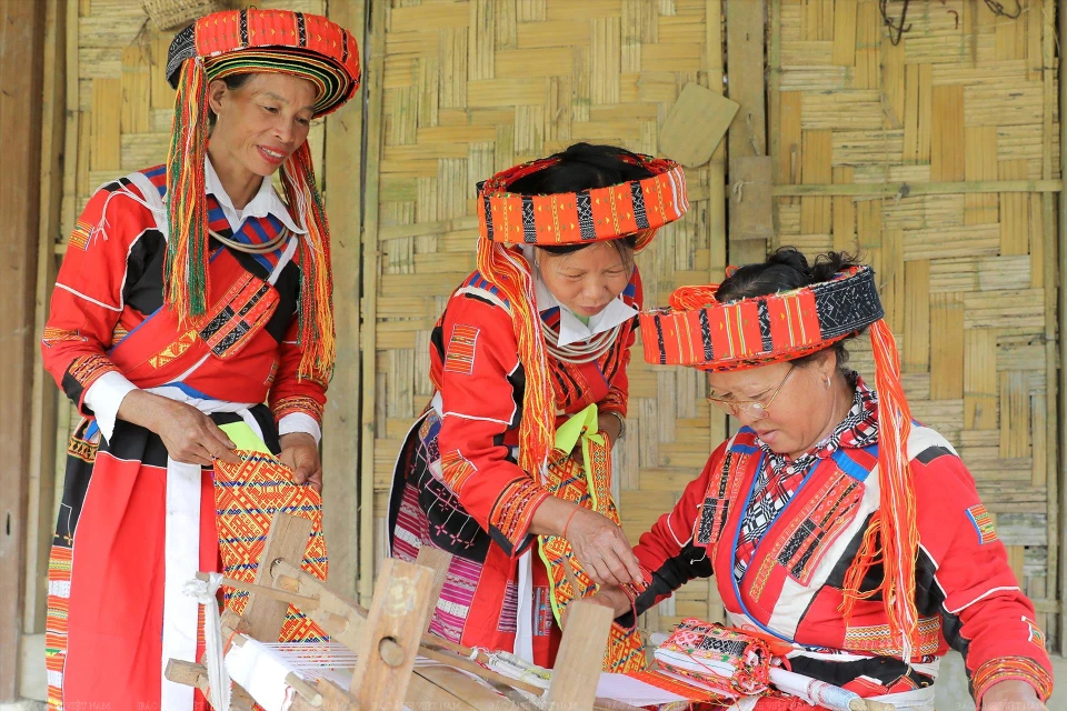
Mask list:
[[[518,359],[510,304],[478,272],[456,291],[432,333],[430,378],[441,394],[439,434],[442,479],[478,524],[508,555],[532,540],[527,529],[548,494],[512,455],[518,445],[526,374]],[[622,300],[641,308],[638,271]],[[559,309],[541,313],[559,327]],[[589,363],[565,363],[548,356],[560,421],[589,404],[626,417],[627,377],[634,320],[615,344]]]

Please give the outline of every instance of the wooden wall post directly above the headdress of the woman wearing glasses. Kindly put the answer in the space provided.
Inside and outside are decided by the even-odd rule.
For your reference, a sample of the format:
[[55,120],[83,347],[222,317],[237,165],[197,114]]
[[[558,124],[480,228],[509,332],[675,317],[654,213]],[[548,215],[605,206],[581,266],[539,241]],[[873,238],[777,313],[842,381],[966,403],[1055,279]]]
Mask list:
[[[765,0],[727,0],[726,2],[726,74],[730,99],[741,104],[727,134],[729,178],[736,183],[738,161],[767,154],[767,110],[764,81]],[[745,186],[745,189],[769,190],[770,186]],[[731,201],[731,208],[735,207]],[[767,256],[766,239],[741,239],[735,233],[737,209],[730,210],[730,233],[727,241],[729,261],[747,264]]]

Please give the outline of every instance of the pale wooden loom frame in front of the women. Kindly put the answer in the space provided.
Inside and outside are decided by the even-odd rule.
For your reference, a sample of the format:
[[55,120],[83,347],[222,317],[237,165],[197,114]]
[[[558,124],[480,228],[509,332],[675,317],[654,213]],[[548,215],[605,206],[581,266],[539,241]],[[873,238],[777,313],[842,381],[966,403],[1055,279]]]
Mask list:
[[[632,709],[596,698],[600,660],[611,624],[607,608],[574,603],[556,671],[546,691],[540,685],[489,671],[472,661],[473,650],[427,633],[431,610],[445,583],[451,558],[448,553],[423,548],[416,563],[383,561],[370,609],[365,610],[292,562],[302,559],[310,534],[310,520],[276,513],[256,582],[222,581],[249,593],[242,614],[232,610],[222,614],[222,639],[231,644],[243,647],[249,640],[277,640],[286,611],[292,604],[335,642],[355,652],[357,662],[348,689],[329,679],[310,681],[297,673],[288,674],[286,683],[295,692],[291,711],[358,711],[379,704],[418,709],[442,702],[462,711]],[[200,575],[207,578],[205,573]],[[441,664],[416,668],[416,657]],[[208,674],[202,664],[172,659],[166,675],[208,695]],[[531,702],[520,691],[532,693],[538,700]],[[248,690],[235,683],[231,704],[239,711],[251,711],[255,701]]]

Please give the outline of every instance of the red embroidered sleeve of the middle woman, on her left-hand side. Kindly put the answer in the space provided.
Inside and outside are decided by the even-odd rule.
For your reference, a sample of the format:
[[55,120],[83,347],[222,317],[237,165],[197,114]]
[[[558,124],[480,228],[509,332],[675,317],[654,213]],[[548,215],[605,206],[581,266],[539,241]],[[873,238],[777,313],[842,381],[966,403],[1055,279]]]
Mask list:
[[511,317],[499,306],[457,296],[441,328],[442,478],[493,541],[518,555],[532,540],[534,511],[551,494],[503,444],[505,432],[519,423],[523,380]]

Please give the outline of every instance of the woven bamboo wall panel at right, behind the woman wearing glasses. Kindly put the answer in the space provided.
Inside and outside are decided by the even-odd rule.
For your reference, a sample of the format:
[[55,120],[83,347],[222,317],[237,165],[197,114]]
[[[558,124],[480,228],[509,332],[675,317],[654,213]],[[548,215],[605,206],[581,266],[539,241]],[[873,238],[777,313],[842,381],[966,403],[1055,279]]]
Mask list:
[[[1013,20],[983,2],[911,2],[897,46],[878,4],[777,3],[776,182],[779,194],[825,186],[777,200],[778,243],[860,250],[874,264],[913,414],[959,450],[1016,575],[1051,610],[1040,601],[1056,594],[1063,525],[1049,517],[1054,203],[1050,193],[998,191],[997,181],[1059,177],[1057,79],[1047,69],[1057,63],[1055,3],[1023,0]],[[898,21],[904,4],[889,2],[887,16]],[[882,182],[988,188],[832,194]],[[852,350],[872,374],[869,344]],[[1055,633],[1053,617],[1039,621]]]

